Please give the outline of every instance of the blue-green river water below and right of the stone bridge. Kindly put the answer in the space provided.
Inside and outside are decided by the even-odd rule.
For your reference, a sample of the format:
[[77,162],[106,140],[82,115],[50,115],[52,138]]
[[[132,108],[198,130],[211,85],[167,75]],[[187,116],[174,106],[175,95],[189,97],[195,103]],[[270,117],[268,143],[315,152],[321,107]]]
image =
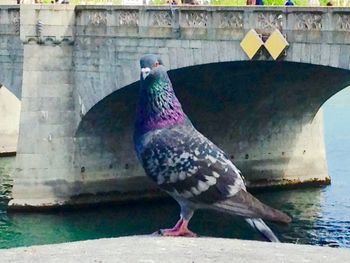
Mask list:
[[[324,106],[325,140],[332,185],[255,195],[288,212],[289,226],[270,224],[283,242],[350,247],[350,88]],[[0,208],[0,248],[102,237],[148,234],[172,226],[172,200],[55,213],[6,213]],[[203,236],[261,240],[242,219],[199,211],[191,221]]]

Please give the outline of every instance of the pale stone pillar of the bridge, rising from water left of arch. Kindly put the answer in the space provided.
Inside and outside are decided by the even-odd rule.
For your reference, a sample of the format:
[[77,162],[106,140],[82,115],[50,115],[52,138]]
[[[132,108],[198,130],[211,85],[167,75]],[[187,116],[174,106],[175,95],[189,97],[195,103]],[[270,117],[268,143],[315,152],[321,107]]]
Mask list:
[[72,191],[73,27],[74,7],[21,6],[22,108],[10,206],[62,204]]

